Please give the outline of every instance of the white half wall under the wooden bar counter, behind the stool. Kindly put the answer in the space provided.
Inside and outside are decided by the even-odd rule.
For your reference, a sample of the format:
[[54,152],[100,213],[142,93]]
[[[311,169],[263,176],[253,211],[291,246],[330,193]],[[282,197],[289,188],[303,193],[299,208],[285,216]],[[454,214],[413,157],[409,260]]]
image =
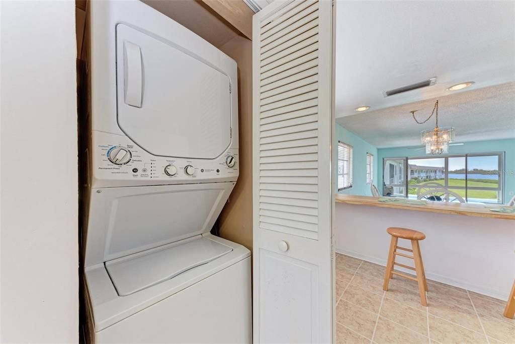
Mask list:
[[[513,220],[336,203],[335,226],[336,252],[383,266],[390,243],[387,227],[423,232],[427,279],[508,300],[515,279]],[[399,245],[411,247],[403,239]],[[399,258],[413,266],[413,260]]]

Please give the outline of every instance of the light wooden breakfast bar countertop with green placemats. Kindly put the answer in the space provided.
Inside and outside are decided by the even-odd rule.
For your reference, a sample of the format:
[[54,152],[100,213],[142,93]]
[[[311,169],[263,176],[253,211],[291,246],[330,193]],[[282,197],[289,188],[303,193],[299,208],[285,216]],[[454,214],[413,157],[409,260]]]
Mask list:
[[[372,196],[358,196],[336,194],[335,201],[337,203],[368,205],[373,207],[405,209],[415,211],[436,212],[440,214],[453,214],[465,216],[477,216],[483,218],[515,220],[514,214],[507,214],[503,212],[495,212],[489,208],[497,207],[497,205],[485,204],[471,204],[471,203],[450,203],[450,202],[433,202],[426,201],[425,205],[393,203],[393,202],[380,202],[379,197]],[[514,224],[515,225],[515,224]]]

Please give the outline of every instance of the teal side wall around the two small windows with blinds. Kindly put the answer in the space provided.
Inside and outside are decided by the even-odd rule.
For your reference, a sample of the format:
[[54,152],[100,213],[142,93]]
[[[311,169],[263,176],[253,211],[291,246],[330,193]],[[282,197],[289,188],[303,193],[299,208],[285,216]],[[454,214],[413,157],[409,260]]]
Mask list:
[[[338,186],[336,185],[336,192],[372,195],[370,184],[367,184],[367,153],[371,153],[374,156],[372,179],[373,183],[377,186],[377,166],[381,165],[383,161],[377,158],[377,148],[339,124],[336,124],[336,140],[352,146],[352,188],[338,192]],[[336,142],[335,147],[338,147],[338,142]],[[378,161],[381,162],[378,164]],[[336,164],[335,175],[338,175],[338,164]]]

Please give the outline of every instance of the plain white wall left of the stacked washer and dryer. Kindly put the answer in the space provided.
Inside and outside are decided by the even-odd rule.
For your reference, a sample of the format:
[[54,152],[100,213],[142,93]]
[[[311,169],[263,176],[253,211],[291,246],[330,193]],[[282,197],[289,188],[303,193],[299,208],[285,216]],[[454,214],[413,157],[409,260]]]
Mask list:
[[75,2],[0,2],[0,342],[78,341]]

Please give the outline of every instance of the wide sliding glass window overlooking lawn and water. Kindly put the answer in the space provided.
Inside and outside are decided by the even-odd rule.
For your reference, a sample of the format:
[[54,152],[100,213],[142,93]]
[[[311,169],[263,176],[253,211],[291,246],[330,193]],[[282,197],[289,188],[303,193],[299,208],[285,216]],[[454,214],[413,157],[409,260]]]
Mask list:
[[502,169],[503,153],[385,158],[383,194],[417,199],[443,189],[466,202],[503,203]]

